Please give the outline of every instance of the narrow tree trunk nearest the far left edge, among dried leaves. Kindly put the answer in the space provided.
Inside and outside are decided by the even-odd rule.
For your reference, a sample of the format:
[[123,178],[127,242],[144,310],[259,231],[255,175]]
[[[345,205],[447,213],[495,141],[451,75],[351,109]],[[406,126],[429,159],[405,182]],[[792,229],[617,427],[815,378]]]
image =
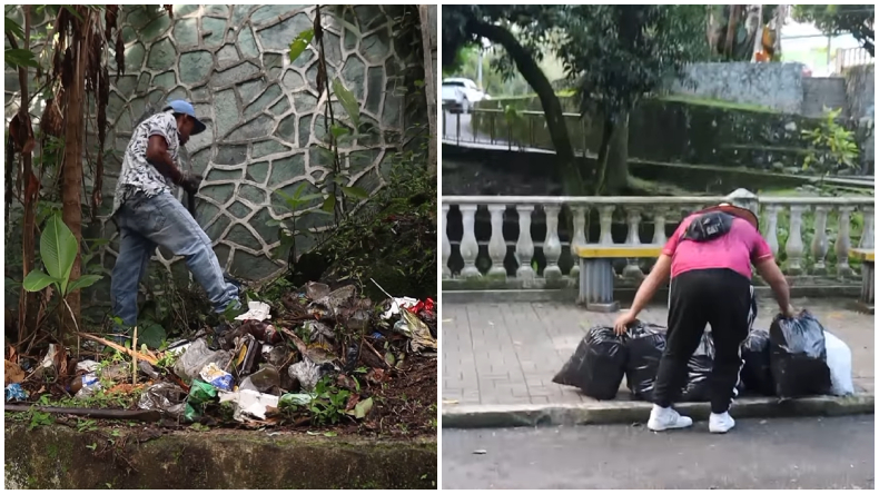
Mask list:
[[[30,50],[30,7],[22,7],[24,13],[24,50]],[[13,42],[14,40],[10,40]],[[12,48],[18,48],[13,46]],[[22,126],[31,127],[29,113],[30,95],[28,93],[28,85],[30,77],[28,76],[27,67],[19,67],[18,69],[18,83],[21,89],[21,107],[19,108],[19,118]],[[24,149],[21,152],[21,182],[23,194],[21,195],[21,202],[24,209],[24,217],[22,219],[21,231],[21,279],[23,280],[28,274],[33,269],[33,256],[37,250],[34,241],[34,231],[37,223],[37,198],[40,192],[40,182],[33,175],[32,151]],[[31,332],[37,330],[37,316],[38,316],[38,294],[26,292],[21,288],[19,296],[18,307],[18,343],[23,343],[30,337]]]

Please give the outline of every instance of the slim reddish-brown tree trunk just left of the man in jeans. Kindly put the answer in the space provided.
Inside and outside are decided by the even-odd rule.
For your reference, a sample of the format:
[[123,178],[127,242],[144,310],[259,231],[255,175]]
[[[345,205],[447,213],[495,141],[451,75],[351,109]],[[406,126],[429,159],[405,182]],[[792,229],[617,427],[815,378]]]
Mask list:
[[[88,26],[88,20],[83,22]],[[90,34],[90,29],[86,29],[86,38]],[[76,39],[70,45],[73,59],[73,77],[70,87],[66,88],[65,97],[65,159],[62,165],[61,200],[62,218],[73,237],[77,239],[77,256],[73,260],[73,268],[70,270],[70,281],[79,278],[80,274],[80,244],[82,241],[82,207],[80,195],[82,194],[82,130],[85,122],[82,119],[82,101],[85,99],[86,60],[88,55],[88,40]],[[79,318],[80,299],[79,292],[70,294],[67,298],[70,305],[72,317]],[[72,333],[73,322],[69,315],[62,319],[62,330],[65,334]]]

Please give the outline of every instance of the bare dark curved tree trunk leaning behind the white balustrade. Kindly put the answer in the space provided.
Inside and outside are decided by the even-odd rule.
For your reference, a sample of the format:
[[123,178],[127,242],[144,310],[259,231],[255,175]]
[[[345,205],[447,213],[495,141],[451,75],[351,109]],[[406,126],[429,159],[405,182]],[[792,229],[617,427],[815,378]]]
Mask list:
[[506,29],[500,26],[471,20],[467,22],[466,30],[503,46],[510,57],[515,61],[518,72],[522,73],[522,77],[525,78],[541,100],[543,112],[546,116],[546,128],[550,131],[550,137],[555,148],[555,157],[561,167],[565,194],[584,194],[585,186],[583,176],[577,168],[574,157],[574,148],[571,145],[571,138],[567,134],[562,103],[559,101],[559,97],[555,96],[555,90],[546,78],[546,75],[543,73],[543,70],[541,70],[537,62],[534,61],[531,53],[518,43],[515,36]]

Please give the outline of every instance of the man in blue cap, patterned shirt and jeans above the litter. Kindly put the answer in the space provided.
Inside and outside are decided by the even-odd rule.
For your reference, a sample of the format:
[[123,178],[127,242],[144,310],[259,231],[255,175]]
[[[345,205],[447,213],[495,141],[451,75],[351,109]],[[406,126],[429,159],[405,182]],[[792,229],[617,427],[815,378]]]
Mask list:
[[119,227],[119,256],[110,293],[113,314],[126,329],[137,324],[138,285],[156,246],[186,258],[192,276],[207,292],[217,313],[240,307],[239,289],[228,283],[210,238],[172,196],[175,186],[190,195],[201,177],[180,171],[178,152],[190,136],[205,131],[188,101],[175,100],[135,128],[116,185],[112,217]]

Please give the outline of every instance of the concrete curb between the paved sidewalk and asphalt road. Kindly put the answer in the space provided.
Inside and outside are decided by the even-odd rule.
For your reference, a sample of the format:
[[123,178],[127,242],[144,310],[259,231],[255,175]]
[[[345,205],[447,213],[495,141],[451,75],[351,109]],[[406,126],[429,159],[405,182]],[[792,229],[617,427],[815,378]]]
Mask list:
[[[443,428],[501,428],[552,425],[608,425],[646,423],[653,405],[648,402],[595,402],[577,405],[451,405],[443,407]],[[875,396],[810,396],[779,401],[749,397],[735,401],[735,418],[841,416],[872,414]],[[674,408],[694,421],[707,421],[708,403],[681,403]]]

